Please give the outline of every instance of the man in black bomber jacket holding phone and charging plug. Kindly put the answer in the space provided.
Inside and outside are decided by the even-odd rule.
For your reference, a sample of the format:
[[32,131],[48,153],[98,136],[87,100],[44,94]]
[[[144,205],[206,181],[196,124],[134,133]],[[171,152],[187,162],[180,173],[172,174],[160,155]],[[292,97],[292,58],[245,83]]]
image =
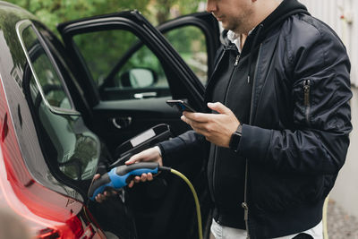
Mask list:
[[229,39],[206,89],[209,114],[184,112],[193,131],[127,164],[171,165],[209,141],[216,238],[322,238],[352,130],[343,43],[296,0],[209,0],[208,11]]

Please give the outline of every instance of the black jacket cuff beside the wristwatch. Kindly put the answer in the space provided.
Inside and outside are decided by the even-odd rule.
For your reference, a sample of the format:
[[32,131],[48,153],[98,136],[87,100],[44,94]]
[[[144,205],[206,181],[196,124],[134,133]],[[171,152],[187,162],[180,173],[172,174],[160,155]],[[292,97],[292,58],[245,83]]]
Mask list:
[[263,160],[266,158],[271,134],[272,130],[243,124],[238,153],[250,160]]

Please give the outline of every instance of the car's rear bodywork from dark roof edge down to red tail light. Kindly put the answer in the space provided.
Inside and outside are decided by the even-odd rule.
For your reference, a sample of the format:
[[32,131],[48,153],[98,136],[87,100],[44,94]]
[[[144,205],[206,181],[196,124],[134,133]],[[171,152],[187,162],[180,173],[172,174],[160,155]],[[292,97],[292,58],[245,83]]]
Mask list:
[[[30,109],[22,92],[21,64],[26,62],[16,22],[36,19],[13,4],[0,3],[0,201],[30,227],[31,235],[75,238],[72,223],[83,218],[81,194],[59,183],[50,172],[38,145]],[[104,237],[98,226],[93,238]],[[41,237],[42,238],[42,237]],[[78,237],[79,238],[79,237]]]

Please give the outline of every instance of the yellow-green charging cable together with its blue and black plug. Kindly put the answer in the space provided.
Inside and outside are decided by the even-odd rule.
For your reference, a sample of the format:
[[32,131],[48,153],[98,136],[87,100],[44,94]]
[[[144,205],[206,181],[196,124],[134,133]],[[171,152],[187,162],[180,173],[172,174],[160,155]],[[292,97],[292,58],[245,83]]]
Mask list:
[[93,181],[92,184],[90,184],[88,196],[91,201],[94,201],[99,193],[105,192],[105,190],[107,189],[121,189],[127,184],[129,184],[132,179],[137,175],[140,176],[142,174],[148,173],[157,175],[159,172],[170,172],[174,175],[177,175],[182,178],[183,181],[190,187],[192,191],[192,196],[195,201],[196,213],[198,218],[199,239],[202,239],[201,213],[198,195],[195,192],[195,189],[189,179],[173,168],[159,166],[158,163],[137,163],[129,166],[116,166],[112,168],[108,173],[101,175],[98,180]]

